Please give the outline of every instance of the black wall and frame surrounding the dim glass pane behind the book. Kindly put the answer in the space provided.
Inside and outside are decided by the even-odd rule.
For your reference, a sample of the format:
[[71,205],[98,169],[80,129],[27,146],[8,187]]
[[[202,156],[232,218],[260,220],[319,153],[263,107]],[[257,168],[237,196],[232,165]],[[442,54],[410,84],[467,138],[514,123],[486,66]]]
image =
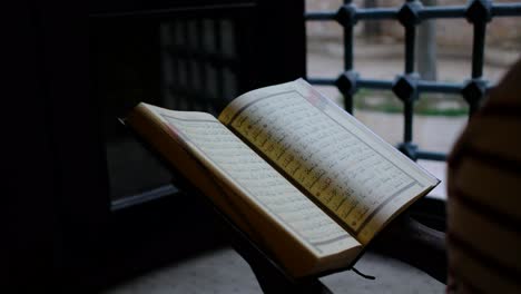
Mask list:
[[[250,26],[240,31],[252,40],[240,49],[240,91],[305,75],[303,3],[220,2],[250,9]],[[208,218],[189,232],[179,226],[200,209],[190,195],[111,212],[100,101],[92,91],[99,78],[92,70],[94,14],[208,4],[215,1],[7,4],[1,293],[78,285],[76,291],[92,292],[175,261],[186,247],[218,243],[219,232],[205,225]],[[200,246],[183,246],[185,239]]]

